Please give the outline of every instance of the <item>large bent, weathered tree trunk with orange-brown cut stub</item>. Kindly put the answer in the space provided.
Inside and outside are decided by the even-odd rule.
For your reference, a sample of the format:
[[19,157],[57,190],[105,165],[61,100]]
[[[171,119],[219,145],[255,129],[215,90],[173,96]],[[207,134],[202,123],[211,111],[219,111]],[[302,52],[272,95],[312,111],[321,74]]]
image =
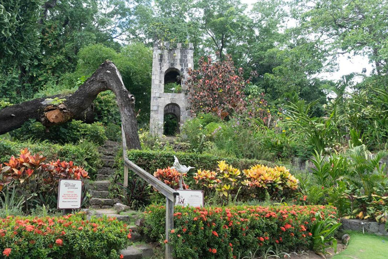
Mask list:
[[[125,88],[119,70],[111,61],[105,61],[72,95],[34,99],[0,110],[0,135],[21,127],[29,119],[36,119],[50,127],[79,118],[97,95],[107,90],[116,95],[127,147],[140,149],[133,110],[135,98]],[[56,97],[60,100],[54,100]]]

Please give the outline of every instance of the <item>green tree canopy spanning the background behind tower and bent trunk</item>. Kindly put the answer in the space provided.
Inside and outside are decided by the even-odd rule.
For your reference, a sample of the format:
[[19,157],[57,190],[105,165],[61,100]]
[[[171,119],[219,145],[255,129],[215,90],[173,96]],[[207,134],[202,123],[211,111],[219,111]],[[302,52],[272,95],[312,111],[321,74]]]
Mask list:
[[385,0],[0,1],[0,95],[18,103],[74,92],[110,59],[147,121],[153,42],[192,42],[196,69],[203,56],[230,55],[270,104],[318,99],[320,114],[334,82],[319,74],[335,71],[339,55],[366,56],[369,82],[386,81],[387,14]]

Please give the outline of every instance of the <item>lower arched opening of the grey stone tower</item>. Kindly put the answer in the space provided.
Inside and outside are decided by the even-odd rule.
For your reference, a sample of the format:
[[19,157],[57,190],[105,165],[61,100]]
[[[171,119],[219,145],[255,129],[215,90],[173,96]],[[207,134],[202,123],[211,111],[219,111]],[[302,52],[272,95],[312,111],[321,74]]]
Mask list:
[[176,103],[167,104],[164,107],[163,135],[176,136],[179,134],[180,107]]

